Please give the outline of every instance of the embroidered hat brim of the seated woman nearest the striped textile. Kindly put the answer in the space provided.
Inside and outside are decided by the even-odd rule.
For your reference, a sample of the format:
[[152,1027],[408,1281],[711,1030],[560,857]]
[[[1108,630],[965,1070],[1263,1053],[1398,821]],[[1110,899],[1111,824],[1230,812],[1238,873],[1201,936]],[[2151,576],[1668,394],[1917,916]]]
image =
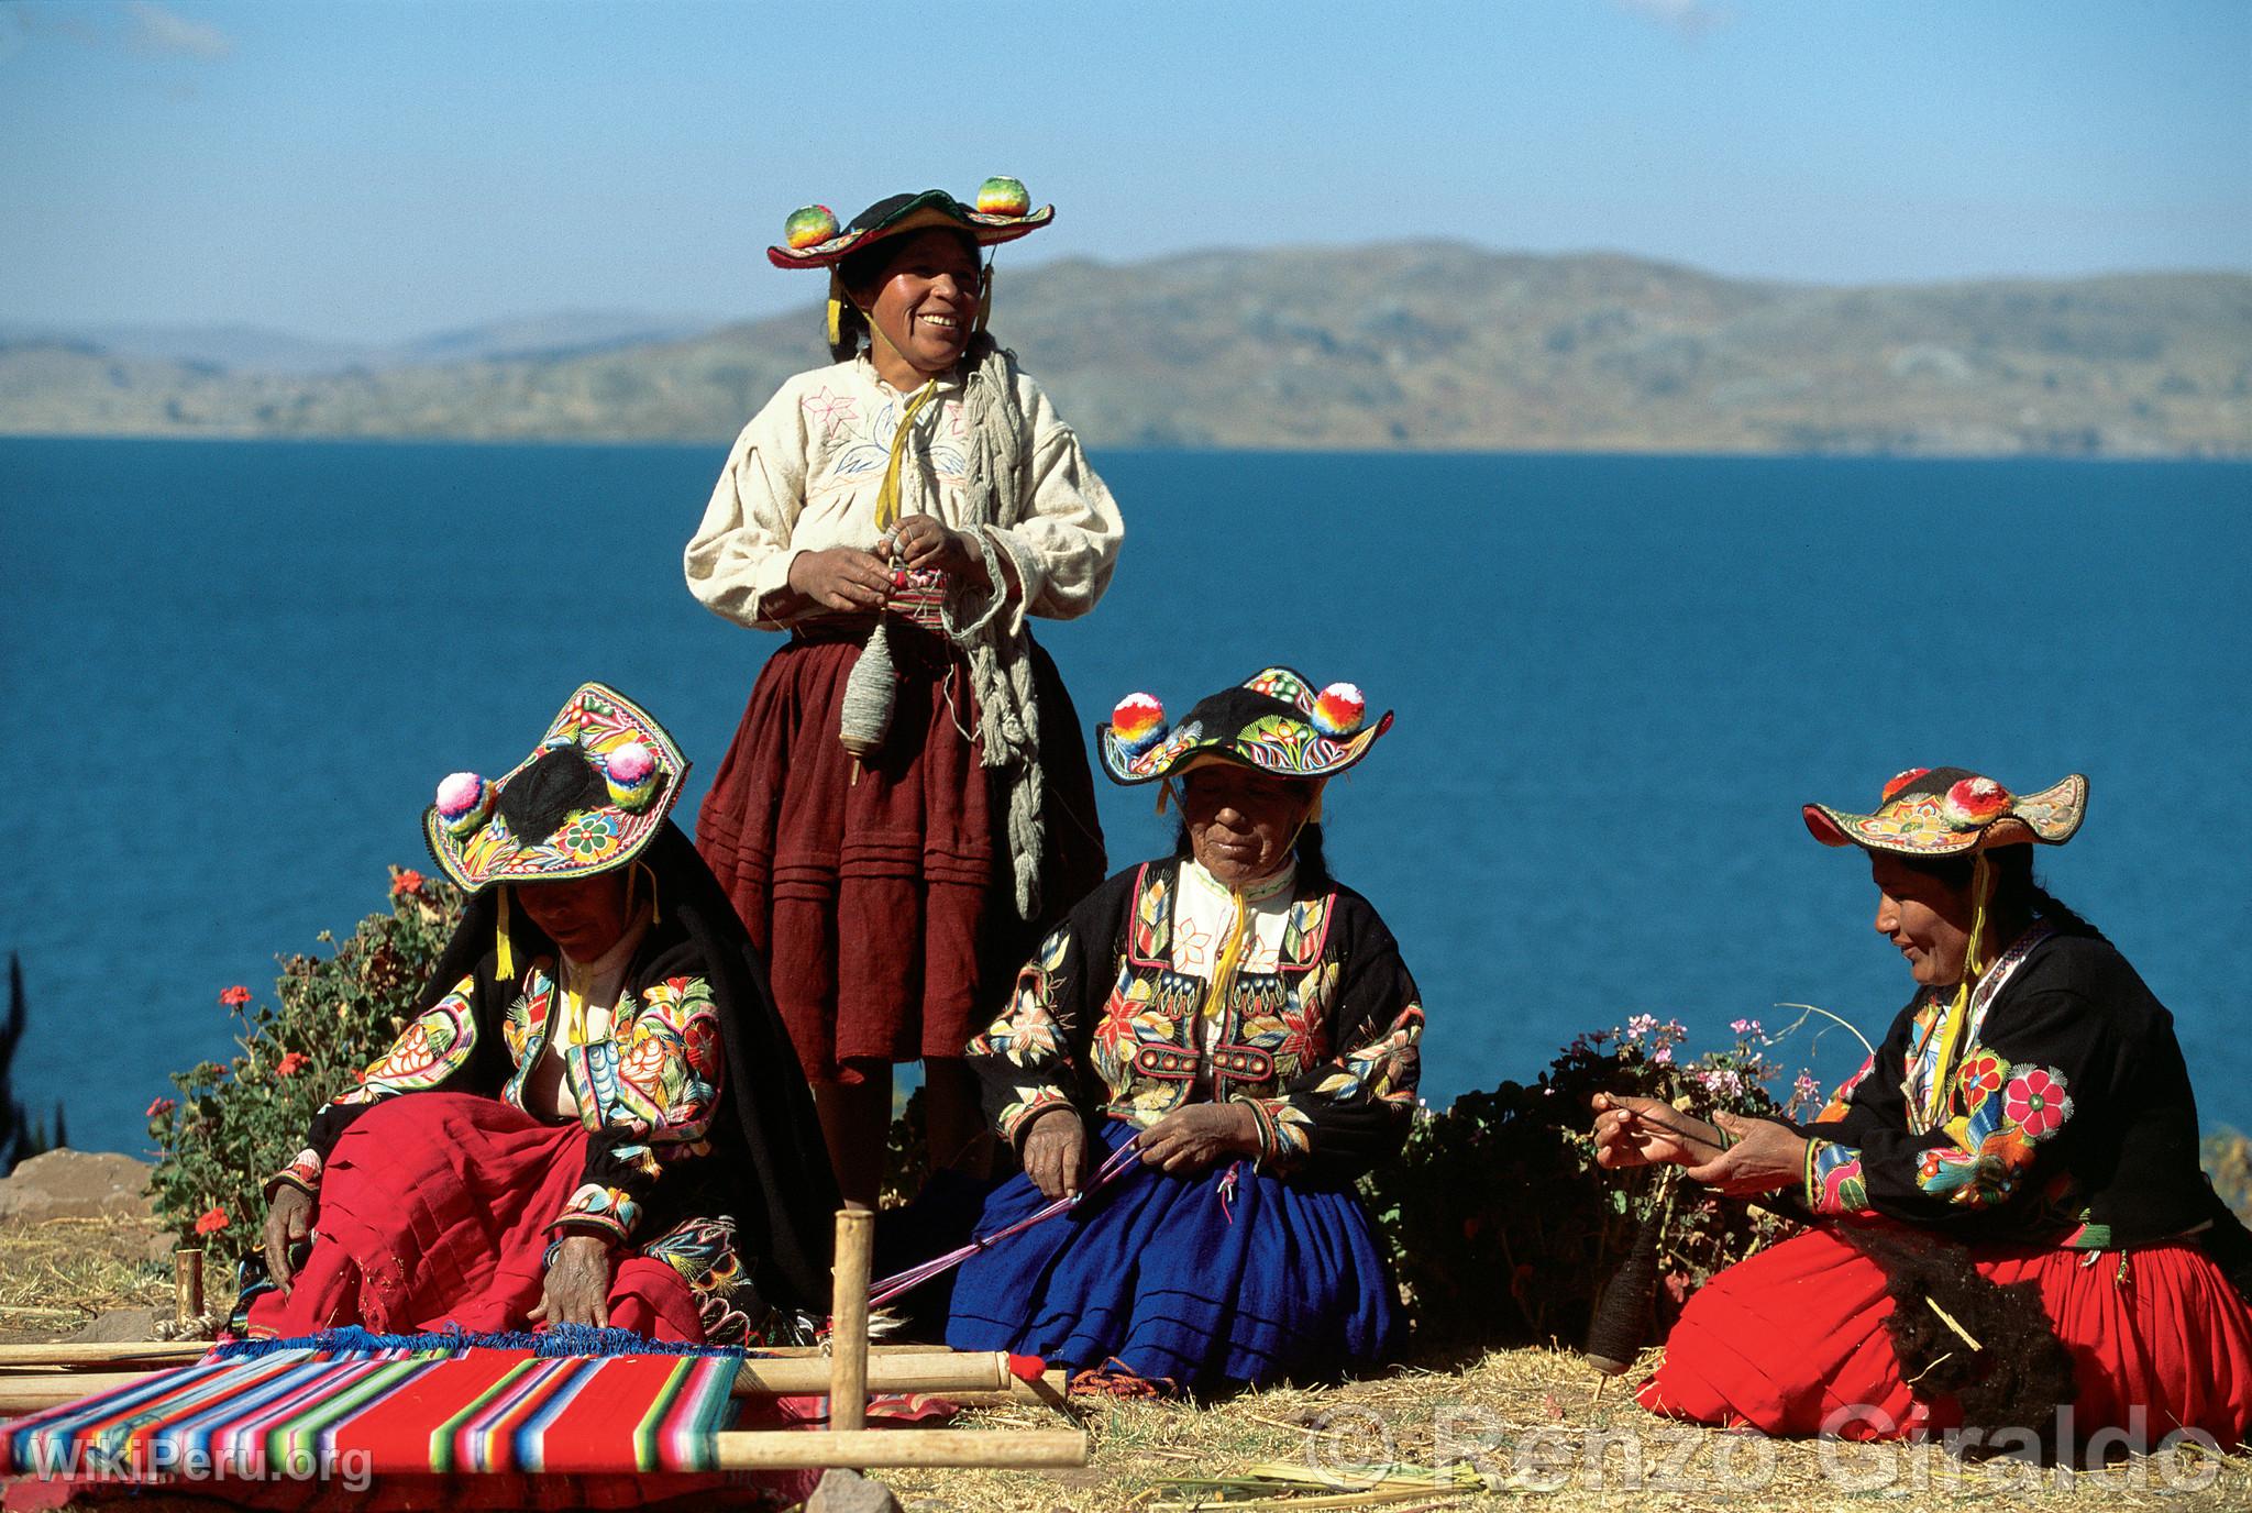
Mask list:
[[671,734],[617,689],[601,682],[579,684],[531,754],[493,781],[493,793],[502,795],[556,747],[577,747],[599,766],[628,741],[637,741],[655,759],[655,788],[640,808],[617,802],[590,804],[563,820],[552,835],[525,840],[509,831],[498,804],[484,824],[466,835],[455,835],[432,804],[423,811],[430,860],[468,892],[493,883],[563,883],[624,867],[664,829],[664,817],[680,802],[689,761]]

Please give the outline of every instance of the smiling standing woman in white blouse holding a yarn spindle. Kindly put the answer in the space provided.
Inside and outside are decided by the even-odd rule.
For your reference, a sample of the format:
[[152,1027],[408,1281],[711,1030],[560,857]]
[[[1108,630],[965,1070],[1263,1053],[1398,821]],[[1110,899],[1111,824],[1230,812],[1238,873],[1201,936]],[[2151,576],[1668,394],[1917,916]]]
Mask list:
[[777,268],[829,270],[831,367],[743,428],[689,590],[784,630],[696,820],[772,961],[849,1202],[874,1205],[892,1063],[923,1060],[932,1166],[980,1142],[962,1049],[1040,932],[1103,878],[1079,716],[1029,615],[1094,608],[1124,525],[1079,437],[986,335],[980,248],[1054,218],[799,209]]

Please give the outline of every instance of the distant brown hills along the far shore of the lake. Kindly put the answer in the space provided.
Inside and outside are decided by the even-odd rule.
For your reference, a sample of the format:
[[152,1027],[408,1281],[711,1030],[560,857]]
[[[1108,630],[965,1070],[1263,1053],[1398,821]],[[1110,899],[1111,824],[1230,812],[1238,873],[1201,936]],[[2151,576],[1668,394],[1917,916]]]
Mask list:
[[[804,311],[606,351],[261,376],[0,344],[0,432],[723,439]],[[1815,288],[1453,243],[1002,268],[1094,446],[2252,455],[2252,277]]]

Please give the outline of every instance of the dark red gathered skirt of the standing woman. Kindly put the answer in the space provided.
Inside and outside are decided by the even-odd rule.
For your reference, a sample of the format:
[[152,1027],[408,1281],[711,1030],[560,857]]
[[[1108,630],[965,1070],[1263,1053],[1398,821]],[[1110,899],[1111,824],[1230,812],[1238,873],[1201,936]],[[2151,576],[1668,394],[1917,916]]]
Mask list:
[[759,671],[696,815],[696,849],[766,952],[813,1081],[847,1060],[959,1056],[1047,923],[1103,880],[1085,738],[1047,653],[1031,648],[1047,856],[1027,923],[968,662],[905,621],[890,644],[899,705],[858,775],[838,723],[860,644],[793,635]]

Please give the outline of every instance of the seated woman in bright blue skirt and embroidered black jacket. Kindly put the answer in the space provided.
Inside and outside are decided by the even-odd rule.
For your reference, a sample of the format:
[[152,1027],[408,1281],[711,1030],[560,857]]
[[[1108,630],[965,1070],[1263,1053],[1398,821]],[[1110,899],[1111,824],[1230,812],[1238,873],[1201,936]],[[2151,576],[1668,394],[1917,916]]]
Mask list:
[[948,1344],[1160,1389],[1383,1358],[1396,1306],[1353,1180],[1407,1135],[1423,1009],[1313,822],[1389,723],[1365,725],[1349,684],[1317,698],[1268,669],[1173,732],[1142,693],[1099,727],[1115,781],[1180,784],[1182,844],[1079,903],[971,1042],[1025,1160],[980,1234],[1081,1191],[1128,1142],[1140,1162],[973,1256]]

